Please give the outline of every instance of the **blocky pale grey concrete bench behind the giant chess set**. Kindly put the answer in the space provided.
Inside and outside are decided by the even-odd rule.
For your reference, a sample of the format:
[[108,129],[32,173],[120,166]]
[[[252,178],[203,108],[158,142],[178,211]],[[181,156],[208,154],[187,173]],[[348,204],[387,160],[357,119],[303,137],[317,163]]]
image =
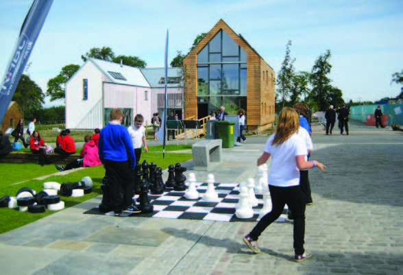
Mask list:
[[208,139],[193,144],[194,169],[208,171],[210,163],[220,163],[222,145],[223,141],[221,139]]

